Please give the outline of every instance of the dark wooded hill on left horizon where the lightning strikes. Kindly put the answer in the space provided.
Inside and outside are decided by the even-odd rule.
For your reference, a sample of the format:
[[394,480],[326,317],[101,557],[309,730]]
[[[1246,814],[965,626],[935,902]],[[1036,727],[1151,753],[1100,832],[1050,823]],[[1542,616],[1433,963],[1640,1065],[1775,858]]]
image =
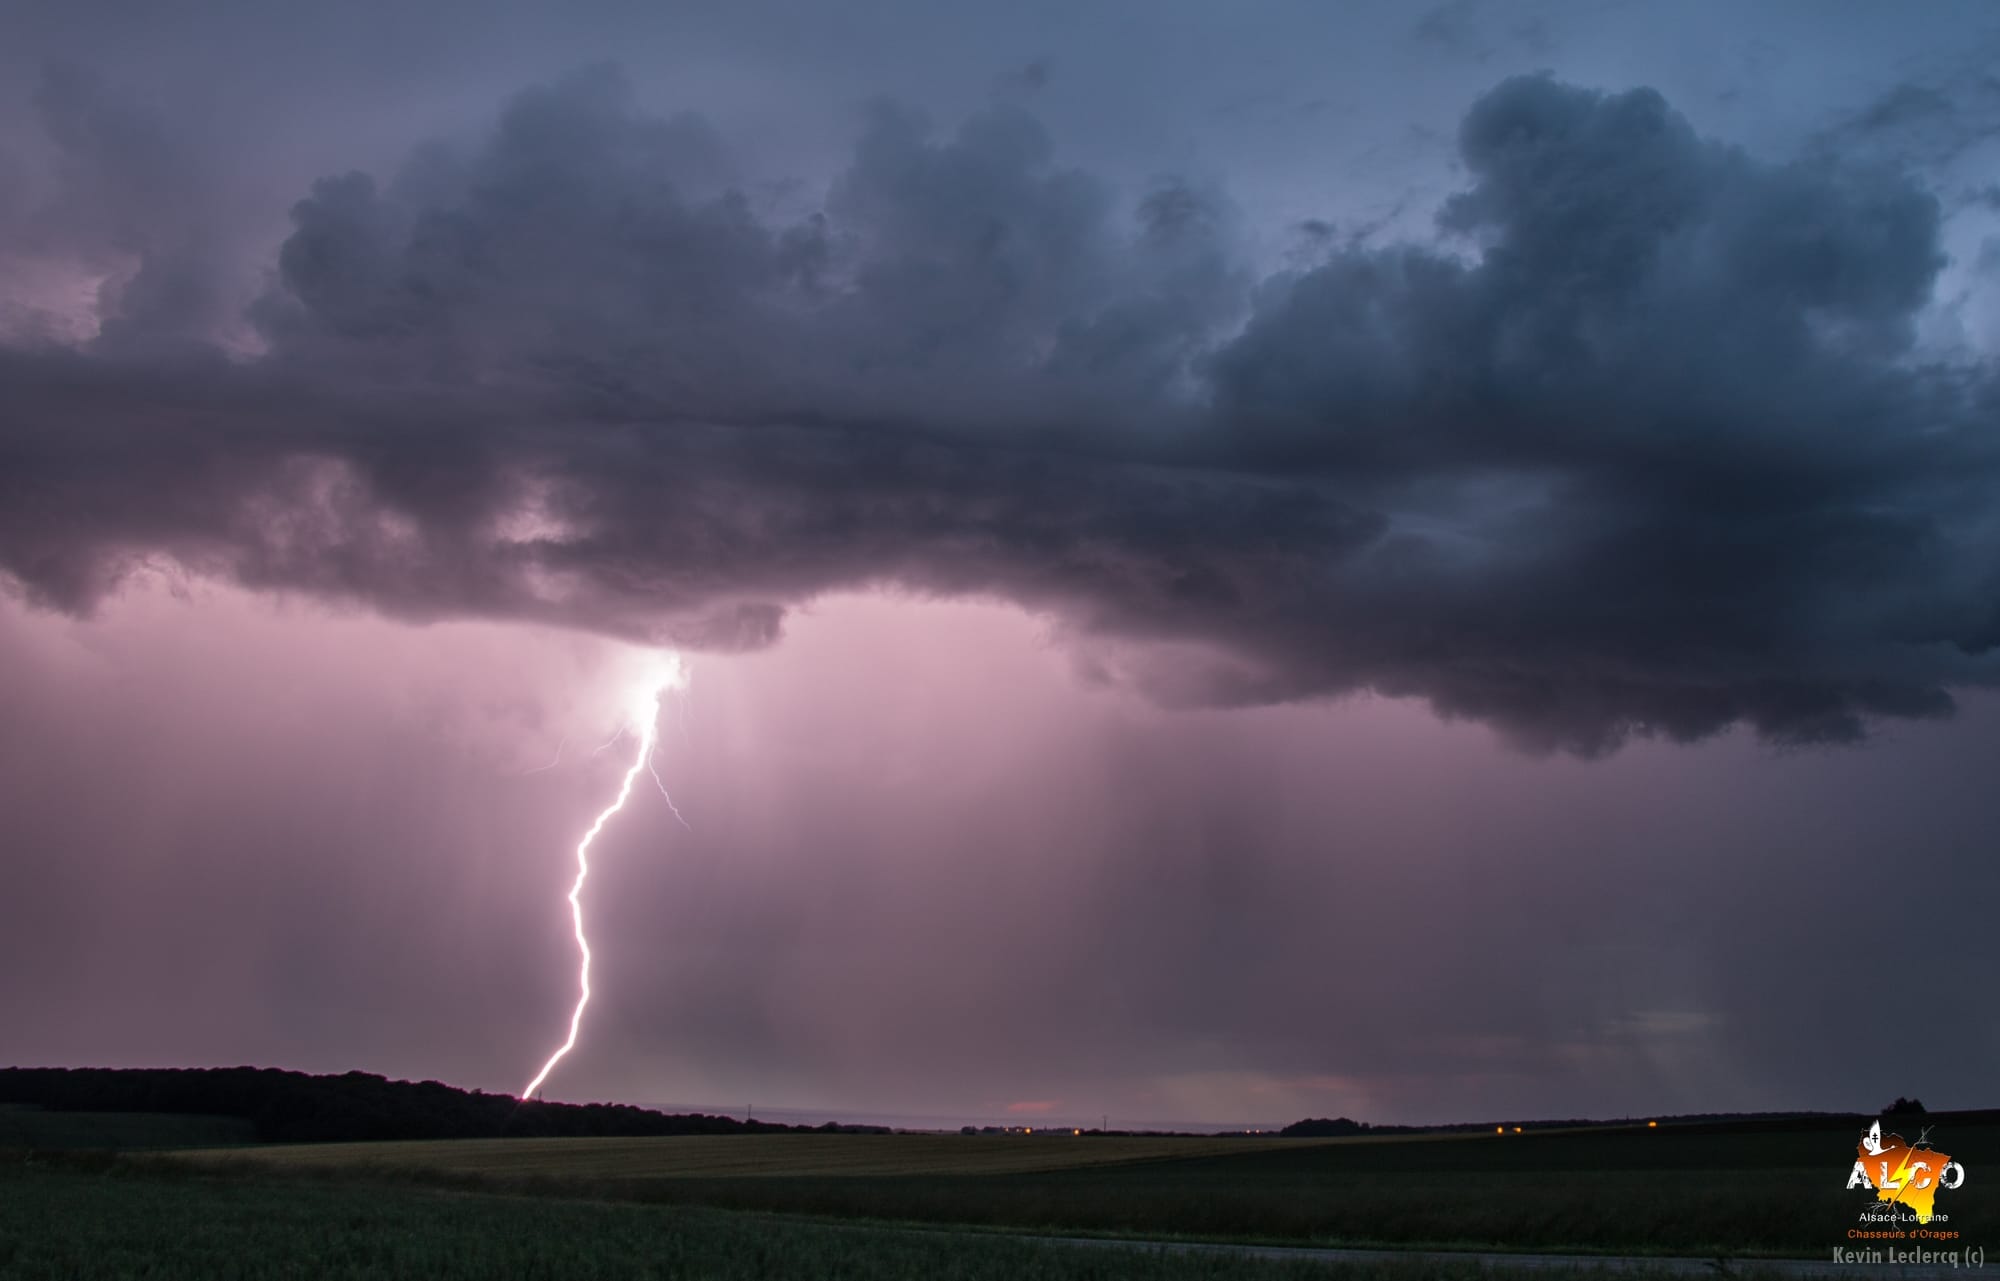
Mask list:
[[[372,1073],[314,1077],[276,1067],[6,1067],[0,1103],[62,1113],[180,1113],[238,1117],[262,1143],[356,1139],[482,1139],[584,1135],[770,1135],[808,1125],[670,1115],[620,1103],[522,1103],[438,1081],[388,1081]],[[822,1125],[818,1133],[888,1133]]]

